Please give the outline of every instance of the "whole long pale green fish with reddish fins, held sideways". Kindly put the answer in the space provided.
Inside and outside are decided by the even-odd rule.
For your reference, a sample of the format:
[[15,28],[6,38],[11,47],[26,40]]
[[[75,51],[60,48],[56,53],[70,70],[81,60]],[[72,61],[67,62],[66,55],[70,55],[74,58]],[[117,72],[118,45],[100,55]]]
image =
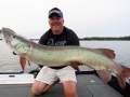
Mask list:
[[122,89],[126,88],[126,78],[130,78],[130,68],[114,61],[115,53],[110,48],[41,45],[17,34],[9,28],[2,28],[0,34],[2,34],[2,39],[9,47],[21,57],[23,69],[26,64],[25,59],[37,65],[51,67],[72,66],[74,63],[79,63],[95,69],[100,78],[106,83],[112,79],[109,70],[113,71],[117,75]]

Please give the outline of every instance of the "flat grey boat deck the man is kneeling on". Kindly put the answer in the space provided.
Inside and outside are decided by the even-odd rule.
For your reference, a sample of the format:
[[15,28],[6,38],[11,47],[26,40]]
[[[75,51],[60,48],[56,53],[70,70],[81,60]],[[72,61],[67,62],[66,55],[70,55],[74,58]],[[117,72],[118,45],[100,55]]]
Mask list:
[[[0,97],[65,97],[63,85],[56,84],[49,92],[34,96],[31,84],[1,84]],[[78,97],[123,97],[95,74],[77,74]]]

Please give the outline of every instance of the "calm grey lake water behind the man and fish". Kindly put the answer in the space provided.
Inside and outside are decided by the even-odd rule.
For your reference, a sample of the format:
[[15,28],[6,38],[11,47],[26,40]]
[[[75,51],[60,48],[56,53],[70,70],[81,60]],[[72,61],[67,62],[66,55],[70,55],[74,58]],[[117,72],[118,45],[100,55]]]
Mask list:
[[[112,48],[116,53],[115,61],[127,67],[130,67],[130,41],[80,41],[81,46],[92,48]],[[20,71],[20,57],[12,54],[12,50],[0,41],[0,71]],[[25,72],[36,69],[38,66],[30,63],[31,66],[26,66]]]

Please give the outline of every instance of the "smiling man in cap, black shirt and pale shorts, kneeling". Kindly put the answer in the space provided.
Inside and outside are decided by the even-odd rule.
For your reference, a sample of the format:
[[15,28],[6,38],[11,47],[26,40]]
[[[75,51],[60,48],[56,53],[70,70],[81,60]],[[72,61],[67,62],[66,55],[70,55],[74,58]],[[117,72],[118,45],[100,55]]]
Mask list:
[[[79,46],[79,40],[76,33],[72,29],[63,26],[63,24],[62,11],[57,8],[51,9],[49,11],[49,25],[51,28],[40,38],[39,43],[50,46]],[[70,66],[42,67],[32,84],[31,92],[34,95],[40,95],[49,91],[60,81],[63,83],[66,97],[78,97],[75,69]]]

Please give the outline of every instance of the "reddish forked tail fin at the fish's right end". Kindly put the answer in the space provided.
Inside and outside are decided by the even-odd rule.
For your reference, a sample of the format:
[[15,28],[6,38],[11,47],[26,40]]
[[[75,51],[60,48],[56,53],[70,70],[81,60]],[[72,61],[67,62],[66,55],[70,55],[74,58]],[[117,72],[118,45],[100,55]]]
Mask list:
[[122,89],[125,89],[126,88],[126,78],[130,77],[130,68],[125,67],[125,66],[121,66],[121,67],[122,67],[122,72],[119,75],[117,75],[117,79],[118,79],[120,87]]

